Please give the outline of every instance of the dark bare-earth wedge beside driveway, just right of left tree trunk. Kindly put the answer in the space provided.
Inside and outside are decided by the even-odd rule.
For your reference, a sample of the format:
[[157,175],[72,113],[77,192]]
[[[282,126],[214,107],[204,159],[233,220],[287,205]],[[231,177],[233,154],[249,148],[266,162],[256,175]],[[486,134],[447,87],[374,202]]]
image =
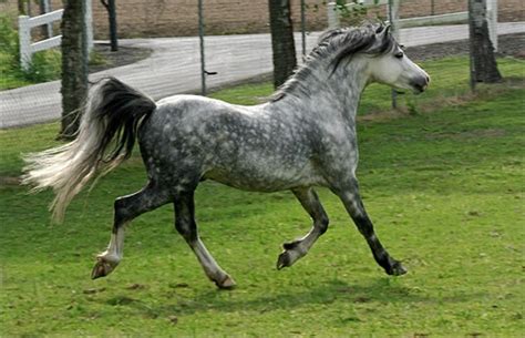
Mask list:
[[105,71],[107,69],[132,64],[141,60],[150,58],[153,50],[147,48],[119,47],[116,52],[111,51],[109,43],[96,43],[94,45],[96,52],[95,64],[90,64],[90,73]]

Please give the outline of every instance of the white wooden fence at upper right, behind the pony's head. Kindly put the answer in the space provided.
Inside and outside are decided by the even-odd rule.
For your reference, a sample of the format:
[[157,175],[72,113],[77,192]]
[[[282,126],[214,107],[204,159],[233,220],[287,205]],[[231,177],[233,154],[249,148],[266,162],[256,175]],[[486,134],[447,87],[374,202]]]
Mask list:
[[[401,28],[434,25],[434,24],[451,24],[451,23],[466,23],[469,21],[469,12],[455,12],[439,16],[405,18],[399,17],[399,7],[401,0],[358,0],[357,3],[349,2],[347,7],[354,6],[374,6],[385,4],[388,7],[389,19],[392,21],[394,33],[399,32]],[[497,0],[487,0],[487,21],[488,33],[494,50],[497,51]],[[339,11],[336,8],[336,2],[327,3],[328,9],[328,28],[339,27]]]

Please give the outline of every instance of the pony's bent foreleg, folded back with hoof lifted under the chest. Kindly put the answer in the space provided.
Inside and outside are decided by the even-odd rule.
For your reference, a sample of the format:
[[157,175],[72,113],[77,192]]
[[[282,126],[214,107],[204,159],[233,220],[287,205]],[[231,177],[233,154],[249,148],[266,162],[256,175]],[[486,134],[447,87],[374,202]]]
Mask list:
[[277,258],[277,269],[291,266],[303,257],[328,228],[328,216],[316,192],[312,188],[292,190],[292,192],[313,219],[313,226],[305,237],[282,245],[285,250]]

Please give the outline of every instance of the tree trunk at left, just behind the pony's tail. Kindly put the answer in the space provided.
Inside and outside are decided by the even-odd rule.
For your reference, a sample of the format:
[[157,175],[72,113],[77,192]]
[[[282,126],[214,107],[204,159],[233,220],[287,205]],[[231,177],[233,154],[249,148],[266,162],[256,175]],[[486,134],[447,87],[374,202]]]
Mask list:
[[62,129],[60,137],[74,139],[87,98],[87,43],[84,1],[64,0],[62,17]]

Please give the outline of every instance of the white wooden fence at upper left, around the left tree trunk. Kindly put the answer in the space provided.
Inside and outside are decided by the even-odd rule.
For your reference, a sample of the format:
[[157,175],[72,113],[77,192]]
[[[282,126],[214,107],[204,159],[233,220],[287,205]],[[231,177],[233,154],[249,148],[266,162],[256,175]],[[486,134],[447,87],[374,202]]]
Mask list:
[[[92,29],[92,13],[91,1],[85,1],[85,25],[87,50],[93,49],[93,29]],[[51,37],[49,39],[31,43],[31,29],[42,24],[50,25],[54,21],[62,19],[64,10],[59,9],[42,16],[30,18],[28,16],[18,17],[18,34],[20,42],[20,65],[23,70],[29,70],[33,53],[43,51],[50,48],[59,47],[62,42],[62,35]]]

